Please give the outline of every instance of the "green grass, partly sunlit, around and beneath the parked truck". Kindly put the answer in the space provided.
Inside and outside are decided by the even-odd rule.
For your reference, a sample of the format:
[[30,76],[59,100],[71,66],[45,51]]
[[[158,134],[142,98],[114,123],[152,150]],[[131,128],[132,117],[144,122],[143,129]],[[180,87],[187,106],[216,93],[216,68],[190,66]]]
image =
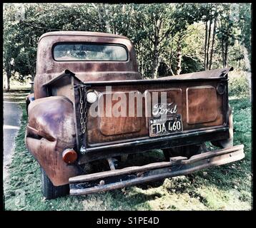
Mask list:
[[[14,95],[21,98],[22,95]],[[127,187],[94,195],[46,200],[41,195],[39,165],[24,145],[25,104],[16,138],[16,150],[4,190],[6,210],[250,210],[252,209],[251,103],[249,98],[231,98],[235,125],[235,145],[245,145],[245,159],[193,175]],[[161,160],[154,150],[137,154],[137,164]],[[132,163],[132,161],[129,161]],[[128,164],[127,164],[128,165]]]

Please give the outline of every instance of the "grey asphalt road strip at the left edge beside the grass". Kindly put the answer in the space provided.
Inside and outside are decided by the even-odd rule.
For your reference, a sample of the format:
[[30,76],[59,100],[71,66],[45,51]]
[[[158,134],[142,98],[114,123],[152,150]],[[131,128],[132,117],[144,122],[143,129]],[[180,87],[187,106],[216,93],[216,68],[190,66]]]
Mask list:
[[4,179],[14,152],[14,140],[19,130],[21,108],[18,102],[4,98]]

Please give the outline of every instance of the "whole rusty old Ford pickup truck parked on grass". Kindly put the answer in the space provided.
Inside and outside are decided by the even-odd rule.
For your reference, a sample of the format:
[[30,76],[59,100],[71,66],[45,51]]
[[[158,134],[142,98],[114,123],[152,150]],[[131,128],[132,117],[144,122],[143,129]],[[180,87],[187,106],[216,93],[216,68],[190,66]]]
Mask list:
[[[44,33],[36,58],[25,142],[41,166],[46,199],[164,180],[245,157],[243,145],[233,145],[232,68],[143,79],[128,38],[85,31]],[[118,169],[115,158],[154,149],[165,160]],[[106,161],[107,170],[86,172],[96,160]]]

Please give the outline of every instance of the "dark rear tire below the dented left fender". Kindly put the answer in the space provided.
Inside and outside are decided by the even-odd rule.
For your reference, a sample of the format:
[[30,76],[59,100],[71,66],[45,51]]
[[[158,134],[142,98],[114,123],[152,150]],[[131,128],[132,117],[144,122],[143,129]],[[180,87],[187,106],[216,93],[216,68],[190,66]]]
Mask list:
[[54,186],[41,168],[41,191],[46,199],[55,199],[69,194],[69,185]]

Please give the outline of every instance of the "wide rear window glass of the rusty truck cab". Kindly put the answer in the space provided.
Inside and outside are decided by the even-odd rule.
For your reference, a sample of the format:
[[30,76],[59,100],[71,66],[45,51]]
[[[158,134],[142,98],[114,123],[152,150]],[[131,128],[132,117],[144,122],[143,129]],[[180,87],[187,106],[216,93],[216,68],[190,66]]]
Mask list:
[[117,44],[57,43],[55,61],[127,61],[127,48]]

